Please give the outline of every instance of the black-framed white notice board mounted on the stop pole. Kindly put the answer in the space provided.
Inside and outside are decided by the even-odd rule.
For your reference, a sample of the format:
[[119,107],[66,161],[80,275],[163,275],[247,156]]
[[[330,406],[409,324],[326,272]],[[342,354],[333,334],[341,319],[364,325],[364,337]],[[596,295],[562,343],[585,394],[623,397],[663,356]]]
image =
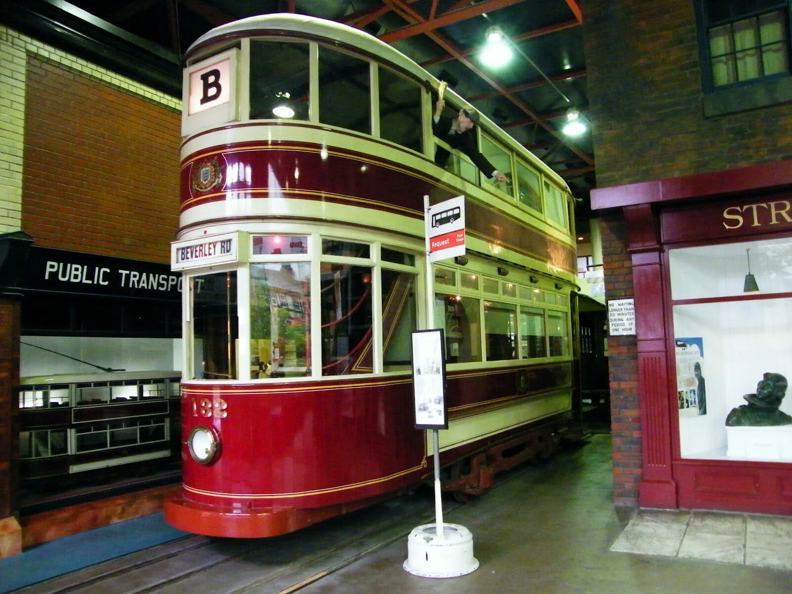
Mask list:
[[415,428],[447,429],[445,349],[442,329],[413,332]]

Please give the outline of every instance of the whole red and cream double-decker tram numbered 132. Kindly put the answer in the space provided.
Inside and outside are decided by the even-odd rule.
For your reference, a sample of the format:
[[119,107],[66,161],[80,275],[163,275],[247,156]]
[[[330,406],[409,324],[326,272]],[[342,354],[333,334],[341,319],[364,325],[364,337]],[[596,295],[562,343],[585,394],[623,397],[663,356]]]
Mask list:
[[[482,493],[497,470],[556,447],[574,363],[561,177],[484,117],[480,150],[508,183],[454,150],[437,166],[440,81],[332,21],[213,29],[188,49],[184,81],[172,246],[185,275],[184,482],[169,524],[278,535],[430,477],[413,426],[417,329],[444,329],[444,489]],[[451,90],[445,101],[466,107]],[[466,256],[432,265],[432,299],[424,196],[465,196]]]

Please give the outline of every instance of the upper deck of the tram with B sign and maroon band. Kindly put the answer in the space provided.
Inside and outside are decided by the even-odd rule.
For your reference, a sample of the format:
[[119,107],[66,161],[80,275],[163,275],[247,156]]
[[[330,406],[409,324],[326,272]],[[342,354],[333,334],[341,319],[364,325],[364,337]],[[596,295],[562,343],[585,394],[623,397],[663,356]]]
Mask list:
[[[440,81],[395,48],[333,21],[270,14],[213,29],[186,65],[181,239],[291,219],[414,240],[423,196],[461,194],[471,251],[573,282],[562,178],[485,117],[479,149],[509,183],[455,151],[436,166]],[[467,105],[451,89],[444,98],[449,112]]]

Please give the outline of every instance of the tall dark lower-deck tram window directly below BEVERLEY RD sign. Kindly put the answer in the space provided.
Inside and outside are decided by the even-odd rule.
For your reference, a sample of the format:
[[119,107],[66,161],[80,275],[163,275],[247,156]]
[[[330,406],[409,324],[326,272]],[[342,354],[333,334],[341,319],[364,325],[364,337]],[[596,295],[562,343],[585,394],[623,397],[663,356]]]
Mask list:
[[236,379],[237,273],[196,276],[191,292],[193,376]]

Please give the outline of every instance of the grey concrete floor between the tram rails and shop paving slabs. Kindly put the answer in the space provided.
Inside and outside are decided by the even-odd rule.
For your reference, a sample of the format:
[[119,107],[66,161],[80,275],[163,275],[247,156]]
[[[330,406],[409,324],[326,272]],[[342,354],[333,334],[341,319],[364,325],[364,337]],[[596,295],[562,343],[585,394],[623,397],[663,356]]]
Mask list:
[[[744,558],[741,563],[718,562],[670,556],[660,549],[655,554],[611,550],[633,515],[613,506],[610,436],[595,435],[587,445],[563,451],[543,466],[516,472],[504,485],[444,517],[472,532],[480,562],[473,573],[440,579],[413,576],[402,569],[407,541],[399,539],[299,592],[792,592],[792,571],[745,565]],[[683,519],[674,520],[677,524],[691,523],[691,512],[672,515]],[[726,523],[733,522],[728,514],[723,516]],[[786,550],[792,543],[789,536],[777,540],[775,547]]]

